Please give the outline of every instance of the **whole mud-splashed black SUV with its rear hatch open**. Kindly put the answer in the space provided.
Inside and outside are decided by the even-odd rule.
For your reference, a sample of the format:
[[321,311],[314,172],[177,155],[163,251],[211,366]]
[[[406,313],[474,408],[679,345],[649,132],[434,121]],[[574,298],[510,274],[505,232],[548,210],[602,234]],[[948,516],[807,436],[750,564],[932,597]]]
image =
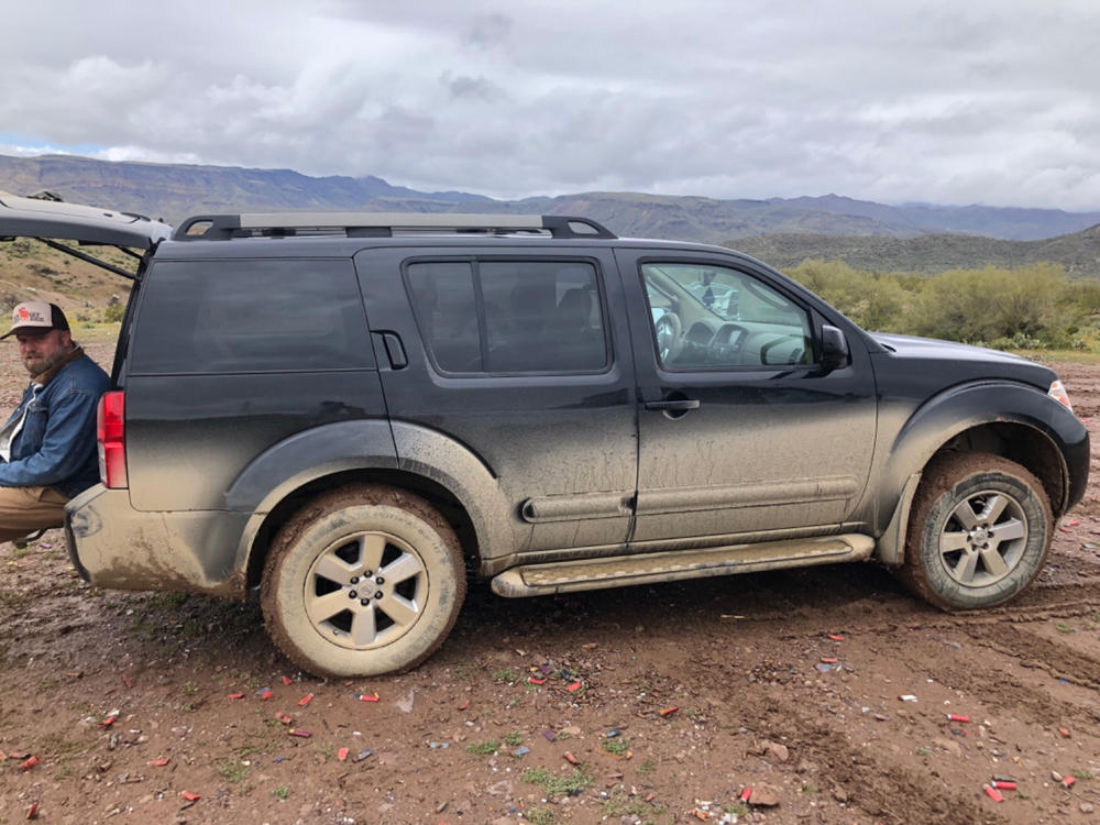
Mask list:
[[169,238],[0,205],[2,237],[144,250],[102,484],[67,508],[77,569],[258,585],[314,673],[417,664],[468,571],[528,596],[875,559],[941,607],[997,605],[1085,492],[1050,370],[870,334],[727,249],[507,215],[205,216]]

